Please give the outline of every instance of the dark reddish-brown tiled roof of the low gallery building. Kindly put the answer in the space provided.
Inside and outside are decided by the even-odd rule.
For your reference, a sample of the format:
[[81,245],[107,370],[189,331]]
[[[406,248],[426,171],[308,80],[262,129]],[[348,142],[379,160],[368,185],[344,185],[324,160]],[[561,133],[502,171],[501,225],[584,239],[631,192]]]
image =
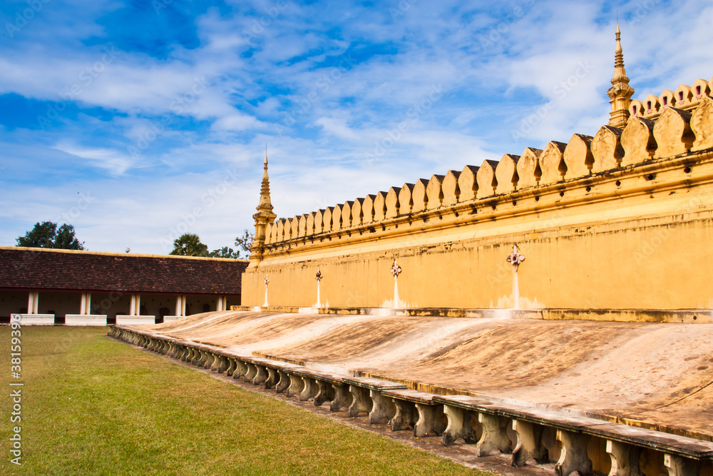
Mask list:
[[1,290],[240,294],[247,260],[0,247]]

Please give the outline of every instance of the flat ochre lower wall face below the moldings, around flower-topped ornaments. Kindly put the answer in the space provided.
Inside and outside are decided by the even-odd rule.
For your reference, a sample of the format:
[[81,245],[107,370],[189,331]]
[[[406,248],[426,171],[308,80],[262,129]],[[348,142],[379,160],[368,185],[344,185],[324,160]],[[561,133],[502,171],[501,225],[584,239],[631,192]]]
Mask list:
[[[668,223],[642,220],[636,228],[606,224],[416,248],[261,265],[243,276],[245,305],[391,307],[396,259],[399,298],[409,308],[513,308],[517,243],[520,308],[707,309],[713,307],[711,213]],[[631,223],[634,225],[634,223]],[[614,228],[614,229],[612,229]],[[535,238],[531,238],[534,236]]]

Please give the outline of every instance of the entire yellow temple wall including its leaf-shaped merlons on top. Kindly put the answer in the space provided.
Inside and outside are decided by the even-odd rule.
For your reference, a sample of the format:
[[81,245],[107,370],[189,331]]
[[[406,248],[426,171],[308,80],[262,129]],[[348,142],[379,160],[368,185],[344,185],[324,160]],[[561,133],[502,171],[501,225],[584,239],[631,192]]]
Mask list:
[[513,309],[506,258],[517,245],[521,309],[693,310],[708,321],[712,218],[706,96],[692,113],[667,108],[655,123],[633,117],[272,223],[243,303],[264,303],[267,275],[269,305],[314,306],[319,269],[321,305],[391,308],[397,260],[395,307]]

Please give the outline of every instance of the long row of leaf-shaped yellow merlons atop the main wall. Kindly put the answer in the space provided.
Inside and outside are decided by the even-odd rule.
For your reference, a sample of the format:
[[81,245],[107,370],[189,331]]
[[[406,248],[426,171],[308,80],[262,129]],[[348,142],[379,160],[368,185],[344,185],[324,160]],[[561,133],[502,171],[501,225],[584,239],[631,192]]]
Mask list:
[[[397,217],[416,219],[433,211],[448,213],[448,208],[463,203],[477,208],[483,201],[526,189],[574,184],[615,170],[633,173],[634,166],[645,161],[713,148],[713,98],[709,84],[705,85],[701,89],[705,94],[689,99],[688,104],[697,101],[694,108],[663,108],[656,121],[633,115],[625,128],[602,126],[595,136],[574,134],[568,143],[550,141],[542,150],[528,147],[520,156],[505,154],[500,161],[485,160],[481,166],[467,165],[461,171],[420,178],[415,183],[270,223],[265,252],[288,241],[297,245],[333,233],[371,231]],[[667,99],[667,103],[672,102],[677,104]]]

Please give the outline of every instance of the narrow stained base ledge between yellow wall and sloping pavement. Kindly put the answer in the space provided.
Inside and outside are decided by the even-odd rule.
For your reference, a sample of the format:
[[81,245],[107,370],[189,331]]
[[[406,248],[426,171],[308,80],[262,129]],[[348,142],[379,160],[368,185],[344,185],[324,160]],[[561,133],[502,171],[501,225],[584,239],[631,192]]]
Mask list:
[[269,313],[431,316],[443,318],[599,320],[640,323],[713,323],[709,309],[461,309],[461,308],[299,308],[234,305],[230,310]]

